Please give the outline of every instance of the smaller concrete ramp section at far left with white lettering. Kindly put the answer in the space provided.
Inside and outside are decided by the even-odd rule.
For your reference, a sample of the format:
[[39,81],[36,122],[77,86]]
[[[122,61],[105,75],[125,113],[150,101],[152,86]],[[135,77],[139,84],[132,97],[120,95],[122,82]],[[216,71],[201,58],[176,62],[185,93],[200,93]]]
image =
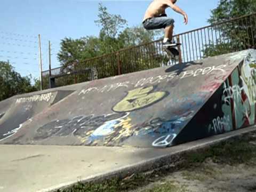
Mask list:
[[70,91],[55,91],[23,95],[0,102],[0,141],[11,137],[23,123],[33,121],[34,115],[41,113],[70,93]]

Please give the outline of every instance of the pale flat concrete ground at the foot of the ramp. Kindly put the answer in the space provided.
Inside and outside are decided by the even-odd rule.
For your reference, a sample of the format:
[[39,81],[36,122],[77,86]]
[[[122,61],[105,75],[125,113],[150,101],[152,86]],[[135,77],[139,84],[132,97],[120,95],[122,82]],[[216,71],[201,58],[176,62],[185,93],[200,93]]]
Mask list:
[[147,170],[161,159],[162,163],[163,159],[172,161],[182,151],[255,130],[254,126],[248,127],[164,149],[0,145],[0,192],[49,191],[121,170]]

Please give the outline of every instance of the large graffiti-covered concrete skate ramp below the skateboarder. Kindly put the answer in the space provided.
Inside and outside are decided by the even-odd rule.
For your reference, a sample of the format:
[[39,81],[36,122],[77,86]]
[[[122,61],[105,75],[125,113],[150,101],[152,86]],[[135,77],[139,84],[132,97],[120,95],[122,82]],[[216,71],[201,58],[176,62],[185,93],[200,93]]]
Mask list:
[[247,50],[48,90],[76,91],[0,143],[166,147],[252,125],[255,58]]

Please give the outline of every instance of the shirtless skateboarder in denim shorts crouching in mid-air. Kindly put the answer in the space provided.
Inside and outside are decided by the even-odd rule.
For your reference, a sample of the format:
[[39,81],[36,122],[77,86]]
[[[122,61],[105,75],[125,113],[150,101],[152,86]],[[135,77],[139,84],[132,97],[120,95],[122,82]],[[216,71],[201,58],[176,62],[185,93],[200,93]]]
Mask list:
[[144,28],[147,30],[164,28],[165,34],[163,46],[166,48],[178,44],[175,43],[172,39],[174,20],[167,17],[165,9],[167,7],[171,7],[175,12],[183,15],[185,25],[188,23],[188,15],[177,5],[174,5],[176,2],[177,0],[154,0],[149,5],[142,22]]

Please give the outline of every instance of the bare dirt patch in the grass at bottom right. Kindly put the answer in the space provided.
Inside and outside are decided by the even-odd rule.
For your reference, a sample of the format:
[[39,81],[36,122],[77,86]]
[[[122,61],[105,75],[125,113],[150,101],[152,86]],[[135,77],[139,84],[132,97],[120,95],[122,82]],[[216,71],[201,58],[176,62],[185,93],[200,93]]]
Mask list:
[[[174,172],[165,177],[162,183],[175,183],[185,191],[256,191],[256,167],[216,164],[209,159],[195,169]],[[155,183],[155,188],[161,183]],[[147,191],[139,189],[137,191]],[[156,190],[157,191],[157,190]],[[164,190],[163,190],[164,191]]]

